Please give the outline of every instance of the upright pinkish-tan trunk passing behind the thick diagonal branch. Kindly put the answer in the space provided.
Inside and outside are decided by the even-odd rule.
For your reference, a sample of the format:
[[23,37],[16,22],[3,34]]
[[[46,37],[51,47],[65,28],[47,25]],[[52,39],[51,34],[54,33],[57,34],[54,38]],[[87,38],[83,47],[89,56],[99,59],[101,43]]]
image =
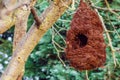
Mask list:
[[[26,34],[27,21],[28,21],[28,16],[30,14],[30,8],[24,5],[21,8],[19,8],[15,14],[16,14],[15,15],[16,22],[15,22],[15,31],[14,31],[13,51],[16,49],[17,44]],[[22,80],[23,74],[24,74],[24,66],[17,80]]]

